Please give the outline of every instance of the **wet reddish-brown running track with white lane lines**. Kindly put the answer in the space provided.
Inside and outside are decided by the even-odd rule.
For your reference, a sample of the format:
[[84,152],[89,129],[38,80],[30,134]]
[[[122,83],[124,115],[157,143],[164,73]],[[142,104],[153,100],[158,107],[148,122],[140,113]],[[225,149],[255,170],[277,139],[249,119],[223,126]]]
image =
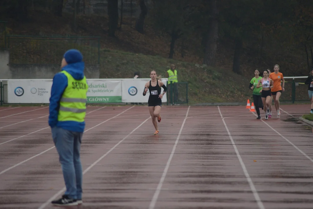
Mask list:
[[[67,208],[313,208],[312,127],[296,119],[310,109],[281,108],[162,107],[153,135],[147,107],[88,107],[84,203]],[[64,193],[48,113],[0,108],[1,209],[56,208]]]

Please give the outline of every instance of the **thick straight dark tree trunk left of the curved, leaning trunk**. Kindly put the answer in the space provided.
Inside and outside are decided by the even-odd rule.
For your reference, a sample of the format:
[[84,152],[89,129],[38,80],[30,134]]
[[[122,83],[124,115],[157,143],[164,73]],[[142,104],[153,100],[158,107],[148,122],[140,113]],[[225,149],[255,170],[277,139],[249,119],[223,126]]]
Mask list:
[[118,1],[108,0],[109,36],[115,37],[118,24]]

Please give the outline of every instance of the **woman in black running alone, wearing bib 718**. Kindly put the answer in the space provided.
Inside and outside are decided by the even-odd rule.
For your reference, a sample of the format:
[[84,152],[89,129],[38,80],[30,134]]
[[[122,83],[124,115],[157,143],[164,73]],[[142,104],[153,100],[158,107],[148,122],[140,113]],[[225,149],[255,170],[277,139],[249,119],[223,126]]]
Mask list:
[[[150,95],[148,99],[148,108],[149,112],[152,118],[152,123],[154,128],[156,129],[156,132],[154,135],[159,134],[159,130],[156,124],[156,118],[157,121],[161,122],[161,107],[162,107],[162,97],[166,93],[167,87],[164,85],[164,83],[161,81],[162,76],[156,75],[156,71],[150,72],[151,81],[146,82],[145,90],[143,91],[142,95],[146,96],[146,93],[149,89]],[[161,86],[163,87],[164,91],[161,94]]]

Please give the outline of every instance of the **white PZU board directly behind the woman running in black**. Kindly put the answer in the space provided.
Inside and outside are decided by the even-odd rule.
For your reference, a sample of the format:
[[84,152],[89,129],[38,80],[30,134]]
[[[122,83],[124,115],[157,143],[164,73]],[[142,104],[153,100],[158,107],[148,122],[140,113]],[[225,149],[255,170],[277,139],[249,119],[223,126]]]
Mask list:
[[[122,81],[122,102],[147,103],[150,92],[148,90],[146,96],[143,96],[142,93],[148,81],[151,81],[151,79],[124,79]],[[167,79],[162,79],[162,81],[166,85]],[[161,87],[161,93],[162,92],[163,88]],[[162,103],[163,102],[167,102],[166,94],[162,98]]]

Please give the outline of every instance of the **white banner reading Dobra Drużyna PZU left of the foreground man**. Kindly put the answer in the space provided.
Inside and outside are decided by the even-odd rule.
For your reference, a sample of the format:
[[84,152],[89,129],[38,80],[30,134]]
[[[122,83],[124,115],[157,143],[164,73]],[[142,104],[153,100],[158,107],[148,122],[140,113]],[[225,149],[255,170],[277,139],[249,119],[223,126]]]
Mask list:
[[8,103],[49,103],[52,80],[9,80]]

